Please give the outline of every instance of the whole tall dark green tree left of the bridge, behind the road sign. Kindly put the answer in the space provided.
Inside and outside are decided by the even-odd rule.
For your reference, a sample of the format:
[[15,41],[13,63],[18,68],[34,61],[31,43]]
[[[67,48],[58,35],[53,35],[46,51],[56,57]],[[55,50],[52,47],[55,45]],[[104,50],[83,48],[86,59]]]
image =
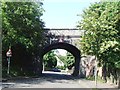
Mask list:
[[42,2],[2,2],[3,63],[9,46],[13,52],[12,67],[26,69],[36,62],[34,59],[39,57],[40,46],[44,44],[42,5]]

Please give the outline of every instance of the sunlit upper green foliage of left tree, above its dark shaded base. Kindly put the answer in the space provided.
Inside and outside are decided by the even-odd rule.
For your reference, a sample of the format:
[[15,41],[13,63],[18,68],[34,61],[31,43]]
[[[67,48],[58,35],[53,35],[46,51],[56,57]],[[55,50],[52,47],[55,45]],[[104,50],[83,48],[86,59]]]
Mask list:
[[22,43],[28,49],[38,47],[44,25],[40,19],[41,5],[35,2],[2,2],[3,50],[16,43]]

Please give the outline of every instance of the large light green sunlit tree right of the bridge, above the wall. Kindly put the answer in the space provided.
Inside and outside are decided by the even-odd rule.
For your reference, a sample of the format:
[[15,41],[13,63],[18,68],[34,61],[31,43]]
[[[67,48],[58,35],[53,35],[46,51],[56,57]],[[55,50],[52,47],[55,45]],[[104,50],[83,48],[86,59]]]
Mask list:
[[[120,70],[120,2],[99,2],[84,10],[79,27],[84,53],[97,56],[106,70]],[[114,64],[115,63],[115,64]]]

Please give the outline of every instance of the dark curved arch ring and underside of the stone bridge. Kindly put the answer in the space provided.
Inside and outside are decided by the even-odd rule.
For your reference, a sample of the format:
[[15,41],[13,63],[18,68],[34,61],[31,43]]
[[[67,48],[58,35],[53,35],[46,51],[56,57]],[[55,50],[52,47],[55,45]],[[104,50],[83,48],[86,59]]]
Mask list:
[[[49,52],[50,50],[53,50],[53,49],[65,49],[75,57],[75,69],[74,69],[72,75],[78,76],[80,59],[81,59],[80,50],[78,48],[76,48],[75,46],[68,44],[68,43],[64,43],[64,42],[54,43],[54,44],[48,45],[42,49],[42,51],[41,51],[42,62],[43,62],[43,56],[47,52]],[[41,64],[42,64],[42,62],[41,62]],[[41,73],[42,73],[42,70],[41,70]]]

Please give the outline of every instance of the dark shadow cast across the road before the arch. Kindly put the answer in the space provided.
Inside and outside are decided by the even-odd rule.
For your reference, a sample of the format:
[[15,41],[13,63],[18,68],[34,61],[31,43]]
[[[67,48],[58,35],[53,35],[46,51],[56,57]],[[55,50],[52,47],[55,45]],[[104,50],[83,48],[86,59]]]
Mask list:
[[14,82],[14,83],[42,83],[44,81],[60,81],[60,80],[77,80],[80,77],[74,77],[68,74],[62,74],[60,72],[43,72],[41,76],[37,77],[16,77],[16,78],[9,78],[7,82]]

